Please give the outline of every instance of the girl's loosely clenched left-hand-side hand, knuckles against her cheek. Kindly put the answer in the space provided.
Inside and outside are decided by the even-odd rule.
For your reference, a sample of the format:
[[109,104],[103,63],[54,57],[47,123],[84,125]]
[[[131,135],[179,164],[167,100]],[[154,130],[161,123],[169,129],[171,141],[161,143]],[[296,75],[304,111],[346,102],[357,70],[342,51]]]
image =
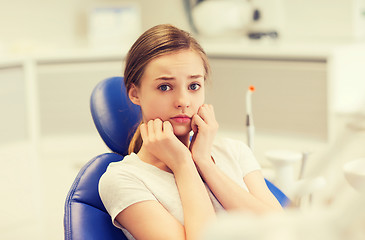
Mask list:
[[143,146],[173,172],[180,163],[191,159],[189,149],[175,136],[169,121],[154,119],[140,126]]

